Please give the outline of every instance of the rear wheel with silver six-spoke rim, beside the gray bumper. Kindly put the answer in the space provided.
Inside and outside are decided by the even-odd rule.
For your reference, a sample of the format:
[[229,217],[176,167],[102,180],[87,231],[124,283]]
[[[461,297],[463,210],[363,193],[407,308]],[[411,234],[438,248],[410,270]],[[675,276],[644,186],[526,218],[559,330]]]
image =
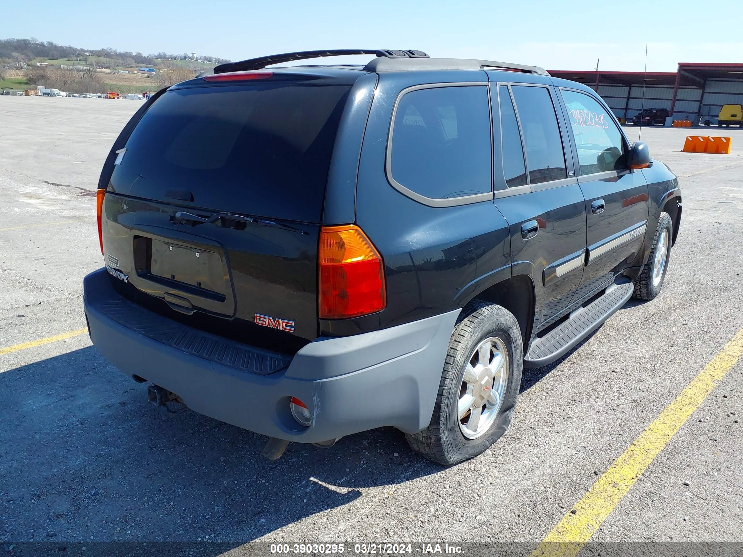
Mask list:
[[510,424],[523,365],[513,314],[488,302],[467,304],[452,333],[431,423],[406,435],[410,447],[444,466],[484,452]]

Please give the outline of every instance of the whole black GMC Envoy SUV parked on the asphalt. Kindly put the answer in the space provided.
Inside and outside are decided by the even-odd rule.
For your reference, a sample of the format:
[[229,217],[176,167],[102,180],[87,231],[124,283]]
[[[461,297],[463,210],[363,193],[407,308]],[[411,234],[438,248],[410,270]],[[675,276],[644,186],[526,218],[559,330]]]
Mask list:
[[681,220],[675,175],[591,89],[420,51],[218,66],[134,114],[99,187],[92,341],[269,457],[380,426],[478,455],[524,366],[658,296]]

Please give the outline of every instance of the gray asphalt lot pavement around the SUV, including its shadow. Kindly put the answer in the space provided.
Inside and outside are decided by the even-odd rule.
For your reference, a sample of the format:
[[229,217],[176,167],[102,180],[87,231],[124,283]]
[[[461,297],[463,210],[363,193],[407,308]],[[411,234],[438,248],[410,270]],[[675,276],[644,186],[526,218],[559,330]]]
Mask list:
[[[214,555],[252,540],[536,546],[743,329],[743,131],[643,128],[683,191],[663,291],[525,370],[496,445],[444,469],[381,429],[331,449],[292,443],[271,463],[265,437],[147,404],[146,386],[86,333],[34,343],[85,328],[82,277],[103,266],[94,191],[139,106],[0,97],[0,547],[11,553],[27,541],[200,541]],[[733,152],[681,153],[691,133],[732,137]],[[593,539],[743,541],[742,393],[743,360]]]

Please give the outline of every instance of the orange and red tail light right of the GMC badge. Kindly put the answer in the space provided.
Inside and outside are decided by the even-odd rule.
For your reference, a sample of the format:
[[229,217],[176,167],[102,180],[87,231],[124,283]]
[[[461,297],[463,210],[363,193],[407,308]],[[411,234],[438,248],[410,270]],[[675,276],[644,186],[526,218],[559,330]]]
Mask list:
[[384,266],[362,229],[322,227],[319,242],[319,317],[342,319],[383,310]]

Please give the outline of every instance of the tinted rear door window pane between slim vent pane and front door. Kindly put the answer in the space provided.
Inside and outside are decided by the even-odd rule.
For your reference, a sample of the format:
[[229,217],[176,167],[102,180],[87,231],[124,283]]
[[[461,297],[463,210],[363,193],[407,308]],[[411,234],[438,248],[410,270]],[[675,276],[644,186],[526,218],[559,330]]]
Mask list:
[[545,87],[525,85],[513,85],[511,89],[524,134],[530,183],[568,177],[557,115],[549,91]]

